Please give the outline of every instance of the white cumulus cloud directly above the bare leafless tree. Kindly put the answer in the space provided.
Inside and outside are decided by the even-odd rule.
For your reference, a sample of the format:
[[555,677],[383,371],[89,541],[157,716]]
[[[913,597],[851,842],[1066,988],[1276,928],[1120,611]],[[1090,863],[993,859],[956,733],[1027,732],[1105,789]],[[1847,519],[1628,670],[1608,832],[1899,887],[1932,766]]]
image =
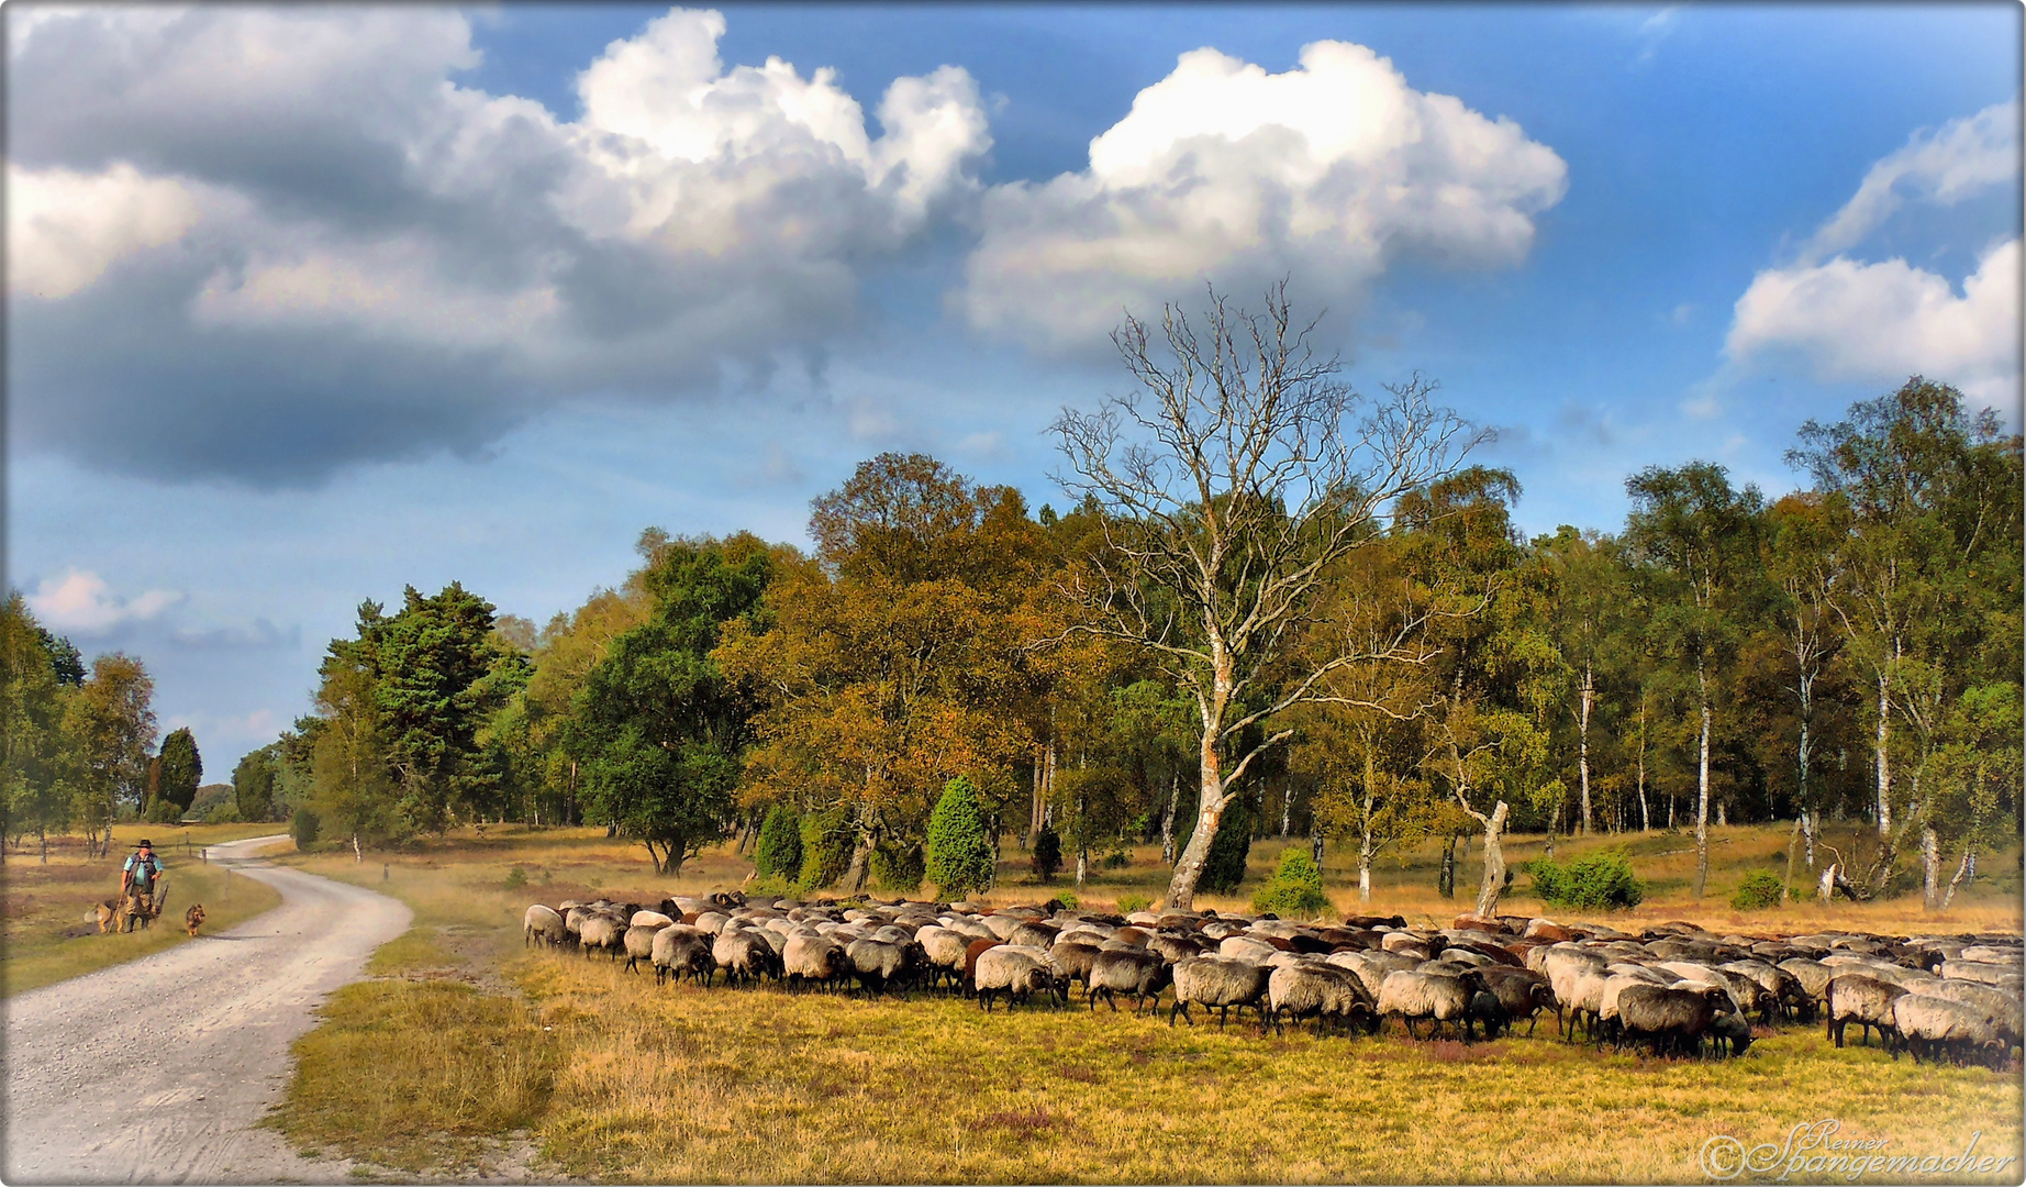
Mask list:
[[1319,41],[1266,73],[1181,55],[1090,142],[1090,168],[995,186],[954,302],[1043,350],[1102,340],[1120,308],[1301,273],[1357,298],[1388,261],[1526,257],[1568,168],[1517,124],[1412,89],[1361,45]]

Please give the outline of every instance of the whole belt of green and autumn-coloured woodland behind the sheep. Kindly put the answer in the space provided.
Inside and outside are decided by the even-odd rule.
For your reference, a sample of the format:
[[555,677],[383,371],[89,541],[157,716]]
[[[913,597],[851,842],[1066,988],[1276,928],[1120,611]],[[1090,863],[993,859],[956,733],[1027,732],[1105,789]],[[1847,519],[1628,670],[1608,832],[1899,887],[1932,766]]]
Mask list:
[[[1479,837],[1481,914],[1507,833],[1680,828],[1700,895],[1710,824],[1791,820],[1809,893],[1931,907],[2016,837],[2020,438],[1955,389],[1807,421],[1789,494],[1647,468],[1617,531],[1526,539],[1436,385],[1353,391],[1284,302],[1118,344],[1135,395],[1054,425],[1062,510],[879,454],[812,500],[810,549],[648,529],[541,626],[458,583],[365,602],[241,810],[361,857],[602,824],[663,873],[737,839],[802,891],[914,891],[962,776],[1037,873],[1159,843],[1187,907],[1252,839],[1347,847],[1366,889]],[[0,642],[8,835],[140,804],[138,664],[87,675],[18,596]]]

